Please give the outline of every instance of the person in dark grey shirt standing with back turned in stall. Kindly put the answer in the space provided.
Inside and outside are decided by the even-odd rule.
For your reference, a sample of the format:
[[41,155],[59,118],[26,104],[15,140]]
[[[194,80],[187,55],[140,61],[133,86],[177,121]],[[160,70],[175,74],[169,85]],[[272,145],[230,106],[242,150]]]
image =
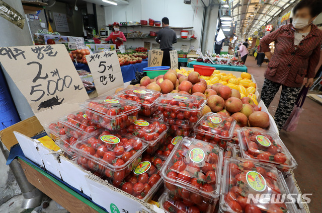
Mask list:
[[157,32],[155,41],[160,44],[160,49],[163,51],[163,66],[171,66],[170,51],[173,50],[172,44],[177,43],[177,35],[173,29],[169,27],[169,19],[164,17],[162,19],[163,29]]

